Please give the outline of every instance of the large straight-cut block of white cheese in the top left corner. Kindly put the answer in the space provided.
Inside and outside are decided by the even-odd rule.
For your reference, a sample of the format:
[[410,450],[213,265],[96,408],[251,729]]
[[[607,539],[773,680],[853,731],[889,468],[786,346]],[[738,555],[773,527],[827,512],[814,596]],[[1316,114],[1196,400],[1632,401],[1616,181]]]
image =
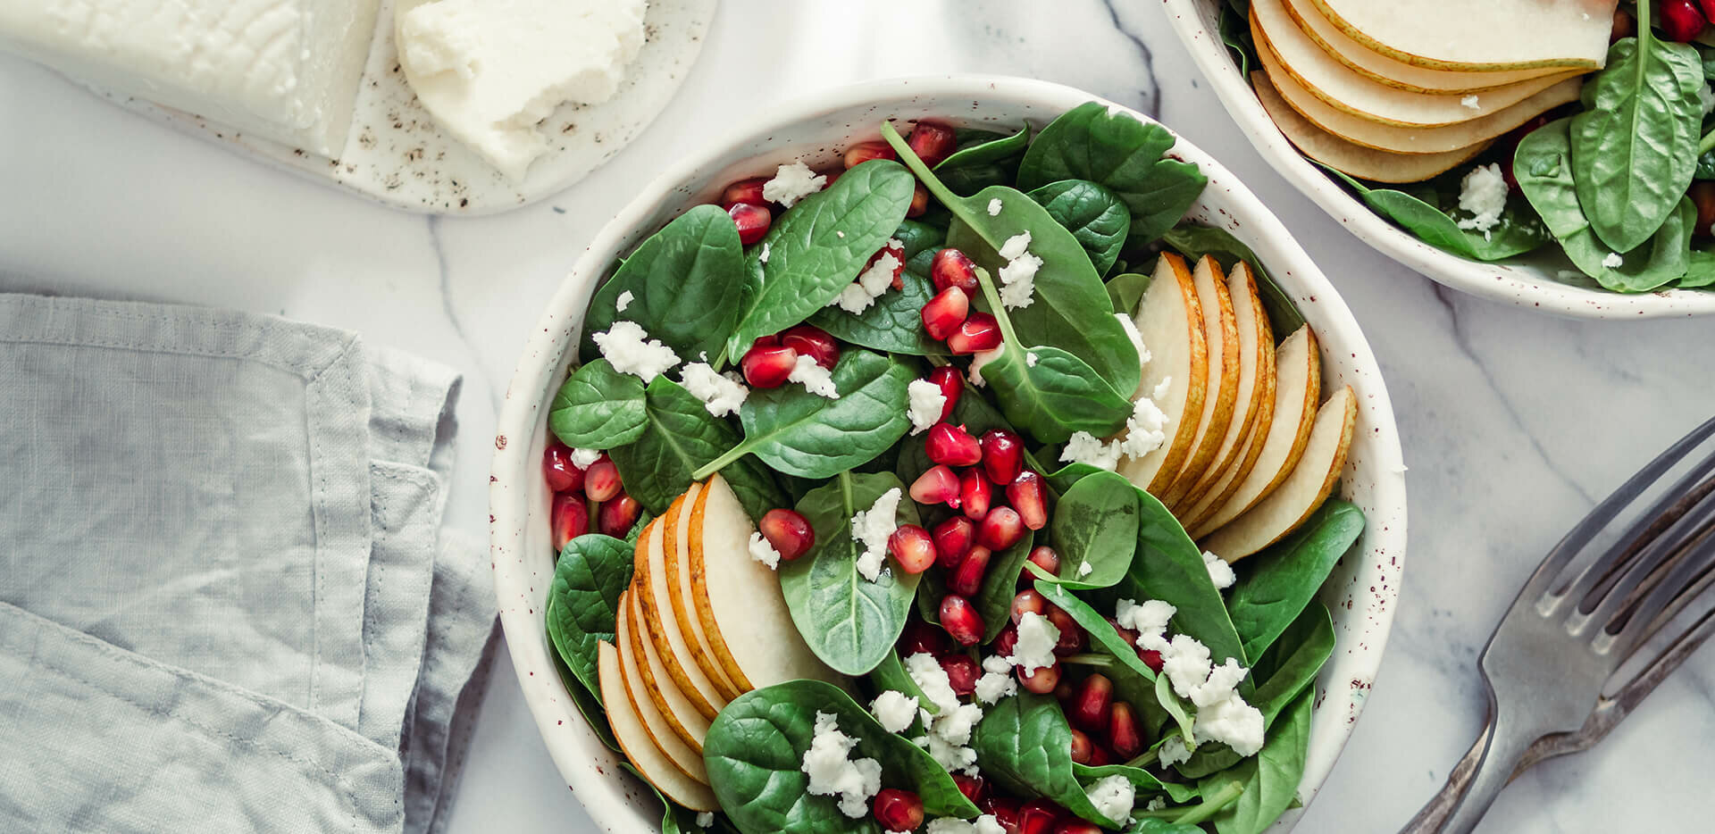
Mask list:
[[0,48],[336,156],[379,0],[0,0]]

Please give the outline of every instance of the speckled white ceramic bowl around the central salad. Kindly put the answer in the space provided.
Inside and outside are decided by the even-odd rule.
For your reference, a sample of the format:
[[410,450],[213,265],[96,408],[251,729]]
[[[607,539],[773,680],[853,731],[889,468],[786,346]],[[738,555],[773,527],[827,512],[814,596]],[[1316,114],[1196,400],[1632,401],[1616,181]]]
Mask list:
[[[489,493],[490,547],[501,625],[518,668],[518,683],[554,764],[602,831],[655,831],[660,810],[648,789],[617,767],[619,760],[602,746],[566,697],[542,623],[554,575],[549,493],[540,465],[549,439],[545,405],[566,378],[583,309],[597,281],[616,257],[686,208],[712,202],[727,182],[772,172],[797,158],[837,165],[840,149],[851,141],[875,139],[883,118],[935,117],[960,125],[1014,129],[1022,120],[1046,124],[1092,98],[1027,79],[916,77],[876,81],[768,106],[761,118],[741,120],[749,125],[744,132],[667,166],[571,268],[544,311],[501,408]],[[1399,595],[1406,510],[1399,438],[1375,357],[1327,278],[1279,220],[1226,168],[1185,141],[1171,153],[1197,163],[1209,177],[1209,187],[1190,216],[1231,230],[1257,252],[1315,328],[1322,341],[1324,384],[1351,384],[1358,393],[1358,432],[1339,493],[1363,508],[1369,527],[1353,556],[1336,568],[1322,592],[1334,613],[1338,645],[1317,681],[1322,697],[1315,704],[1310,757],[1300,786],[1309,801],[1363,709]],[[1291,812],[1283,827],[1295,819],[1297,812]]]

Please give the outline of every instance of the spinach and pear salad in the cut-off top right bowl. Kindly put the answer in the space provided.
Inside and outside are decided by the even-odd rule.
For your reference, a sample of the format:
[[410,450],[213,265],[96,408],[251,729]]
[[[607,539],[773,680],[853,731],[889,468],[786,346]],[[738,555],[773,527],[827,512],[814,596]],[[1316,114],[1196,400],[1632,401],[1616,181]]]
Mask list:
[[1225,0],[1221,33],[1281,132],[1420,240],[1715,288],[1715,2],[1437,5]]

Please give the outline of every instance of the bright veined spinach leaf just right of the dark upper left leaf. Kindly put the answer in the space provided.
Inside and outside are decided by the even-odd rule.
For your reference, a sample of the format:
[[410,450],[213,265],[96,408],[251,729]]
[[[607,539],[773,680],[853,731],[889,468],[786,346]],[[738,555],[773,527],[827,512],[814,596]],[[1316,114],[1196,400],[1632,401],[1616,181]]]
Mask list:
[[761,240],[768,247],[761,292],[727,340],[727,357],[839,297],[906,220],[914,189],[899,163],[870,160],[775,218]]

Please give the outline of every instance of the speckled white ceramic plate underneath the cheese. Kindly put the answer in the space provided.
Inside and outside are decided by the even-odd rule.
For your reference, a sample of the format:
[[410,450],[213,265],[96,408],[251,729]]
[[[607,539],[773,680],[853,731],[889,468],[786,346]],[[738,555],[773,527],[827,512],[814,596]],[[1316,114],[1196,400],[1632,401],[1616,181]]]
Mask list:
[[650,0],[643,50],[619,93],[595,106],[564,105],[542,124],[554,137],[523,182],[511,182],[436,125],[412,93],[393,46],[393,15],[427,0],[382,0],[357,93],[357,115],[338,160],[235,134],[141,98],[98,94],[190,136],[237,148],[281,168],[328,180],[388,206],[430,215],[489,215],[535,202],[581,180],[655,118],[703,50],[715,0]]

